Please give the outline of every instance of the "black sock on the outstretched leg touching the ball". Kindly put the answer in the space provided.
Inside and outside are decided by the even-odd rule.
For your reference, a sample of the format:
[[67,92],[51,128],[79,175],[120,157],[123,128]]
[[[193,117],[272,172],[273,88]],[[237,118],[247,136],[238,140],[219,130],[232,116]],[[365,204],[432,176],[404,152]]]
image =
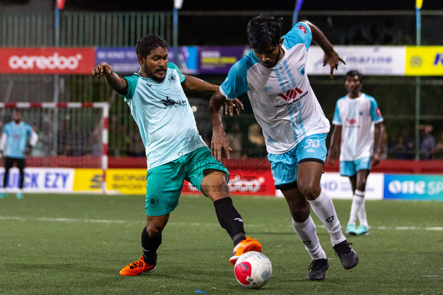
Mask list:
[[246,239],[245,228],[240,214],[229,197],[218,199],[214,202],[215,213],[217,213],[218,222],[233,239],[234,245]]

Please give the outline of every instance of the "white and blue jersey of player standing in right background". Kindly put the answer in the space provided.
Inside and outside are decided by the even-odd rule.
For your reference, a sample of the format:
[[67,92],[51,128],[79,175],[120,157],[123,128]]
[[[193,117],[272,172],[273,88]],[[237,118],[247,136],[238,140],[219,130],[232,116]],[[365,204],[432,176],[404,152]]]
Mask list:
[[372,156],[374,125],[383,122],[377,102],[362,93],[357,98],[343,96],[335,105],[332,124],[342,126],[340,161],[357,161]]

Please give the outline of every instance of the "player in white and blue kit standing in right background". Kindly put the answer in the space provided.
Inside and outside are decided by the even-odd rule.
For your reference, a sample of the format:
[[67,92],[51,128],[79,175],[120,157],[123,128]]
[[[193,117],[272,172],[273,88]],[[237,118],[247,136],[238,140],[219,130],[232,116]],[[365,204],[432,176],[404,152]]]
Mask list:
[[346,73],[345,87],[348,94],[335,106],[328,161],[332,164],[340,153],[340,175],[349,176],[354,192],[346,234],[369,234],[364,199],[366,180],[371,166],[380,162],[385,127],[375,99],[361,92],[363,76],[358,71]]

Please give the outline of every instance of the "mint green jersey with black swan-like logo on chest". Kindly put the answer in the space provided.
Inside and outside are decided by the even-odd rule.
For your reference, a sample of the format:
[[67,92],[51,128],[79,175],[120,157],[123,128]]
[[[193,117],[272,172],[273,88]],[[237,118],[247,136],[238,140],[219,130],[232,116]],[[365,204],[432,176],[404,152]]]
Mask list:
[[148,170],[206,146],[183,92],[185,76],[176,65],[168,62],[162,83],[138,73],[124,79],[128,82],[124,101],[139,126]]

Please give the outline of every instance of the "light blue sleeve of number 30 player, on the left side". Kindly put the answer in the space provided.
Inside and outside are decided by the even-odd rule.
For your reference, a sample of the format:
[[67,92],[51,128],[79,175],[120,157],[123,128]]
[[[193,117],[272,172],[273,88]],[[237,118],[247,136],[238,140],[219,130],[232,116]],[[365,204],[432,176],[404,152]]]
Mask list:
[[237,96],[248,92],[249,85],[246,80],[246,73],[248,69],[245,63],[242,61],[237,61],[229,70],[228,77],[220,85],[220,92],[226,99],[234,100]]

